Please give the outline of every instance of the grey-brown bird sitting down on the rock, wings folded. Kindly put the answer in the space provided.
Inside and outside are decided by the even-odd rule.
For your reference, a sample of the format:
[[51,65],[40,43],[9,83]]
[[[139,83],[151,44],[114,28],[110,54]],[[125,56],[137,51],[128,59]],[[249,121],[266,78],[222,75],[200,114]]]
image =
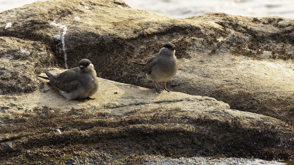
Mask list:
[[94,95],[99,89],[97,73],[94,65],[88,59],[82,59],[78,67],[71,68],[57,75],[52,75],[45,70],[47,77],[38,76],[49,80],[49,84],[59,89],[59,93],[67,99],[94,100],[90,96]]

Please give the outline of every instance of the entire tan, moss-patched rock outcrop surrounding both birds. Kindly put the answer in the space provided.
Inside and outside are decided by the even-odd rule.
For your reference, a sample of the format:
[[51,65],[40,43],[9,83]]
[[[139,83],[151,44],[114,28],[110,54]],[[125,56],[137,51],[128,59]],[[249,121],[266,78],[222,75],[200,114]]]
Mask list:
[[[278,16],[176,19],[106,0],[35,2],[4,11],[0,161],[291,156],[293,27],[293,19]],[[167,82],[177,92],[158,94],[131,62],[146,61],[167,42],[177,46],[179,71]],[[66,100],[35,77],[43,69],[62,71],[49,66],[76,67],[82,58],[100,77],[96,100]]]

